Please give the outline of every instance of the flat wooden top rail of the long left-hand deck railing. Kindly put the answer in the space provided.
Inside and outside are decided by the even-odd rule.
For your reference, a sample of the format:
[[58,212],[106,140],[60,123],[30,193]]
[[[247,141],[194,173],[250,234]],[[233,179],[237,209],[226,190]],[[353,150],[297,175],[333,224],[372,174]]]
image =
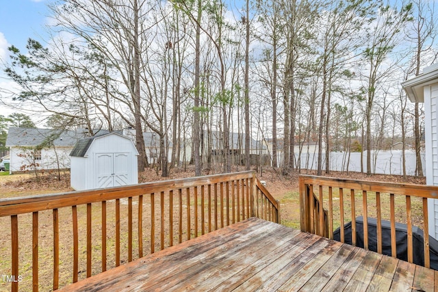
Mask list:
[[182,189],[185,187],[194,187],[196,185],[209,185],[223,181],[252,178],[253,174],[253,171],[233,172],[229,174],[178,178],[168,181],[153,181],[138,185],[127,185],[106,189],[69,191],[61,194],[45,194],[20,198],[5,198],[0,199],[0,217],[69,207],[79,204],[88,204],[92,202],[102,202],[104,200],[127,198],[130,196],[151,194],[157,191],[170,191],[172,189]]

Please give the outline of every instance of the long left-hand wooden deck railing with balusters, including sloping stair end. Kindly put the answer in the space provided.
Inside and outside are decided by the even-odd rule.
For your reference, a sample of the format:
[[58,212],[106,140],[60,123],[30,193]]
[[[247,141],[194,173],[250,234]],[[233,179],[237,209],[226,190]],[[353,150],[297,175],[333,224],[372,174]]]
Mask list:
[[9,278],[0,290],[56,290],[248,217],[279,222],[279,214],[254,172],[3,199],[0,226],[10,230],[0,267]]

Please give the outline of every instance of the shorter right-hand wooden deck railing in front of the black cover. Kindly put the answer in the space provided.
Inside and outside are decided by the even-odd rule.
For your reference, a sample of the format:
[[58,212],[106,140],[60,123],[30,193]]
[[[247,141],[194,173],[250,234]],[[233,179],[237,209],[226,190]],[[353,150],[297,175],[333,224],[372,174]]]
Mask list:
[[[382,253],[382,220],[391,224],[391,256],[397,256],[396,222],[407,224],[407,260],[413,263],[413,222],[424,230],[424,266],[430,267],[428,198],[438,187],[300,176],[301,230],[333,239],[334,228],[351,222],[351,243],[357,244],[358,215],[363,215],[363,247],[368,250],[368,217],[376,218],[376,252]],[[345,242],[344,228],[339,228]]]

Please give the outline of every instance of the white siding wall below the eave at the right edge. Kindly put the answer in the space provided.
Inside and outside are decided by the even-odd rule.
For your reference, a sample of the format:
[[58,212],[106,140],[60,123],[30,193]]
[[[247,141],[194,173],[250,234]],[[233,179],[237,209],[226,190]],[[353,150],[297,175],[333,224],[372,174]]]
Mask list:
[[[424,86],[426,185],[438,185],[438,83]],[[438,200],[428,199],[429,233],[438,239]]]

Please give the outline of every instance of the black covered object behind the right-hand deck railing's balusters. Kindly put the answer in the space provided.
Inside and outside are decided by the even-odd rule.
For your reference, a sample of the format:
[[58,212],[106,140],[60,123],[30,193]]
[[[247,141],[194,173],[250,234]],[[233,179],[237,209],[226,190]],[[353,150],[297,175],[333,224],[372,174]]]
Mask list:
[[[368,217],[368,249],[377,252],[377,220]],[[412,227],[413,263],[424,266],[423,230]],[[344,225],[345,243],[351,242],[351,222]],[[333,233],[333,239],[340,241],[340,229]],[[397,258],[408,259],[407,225],[396,223]],[[363,248],[363,216],[356,218],[356,246]],[[429,236],[430,268],[438,270],[438,241]],[[382,220],[382,254],[391,256],[391,222]]]

